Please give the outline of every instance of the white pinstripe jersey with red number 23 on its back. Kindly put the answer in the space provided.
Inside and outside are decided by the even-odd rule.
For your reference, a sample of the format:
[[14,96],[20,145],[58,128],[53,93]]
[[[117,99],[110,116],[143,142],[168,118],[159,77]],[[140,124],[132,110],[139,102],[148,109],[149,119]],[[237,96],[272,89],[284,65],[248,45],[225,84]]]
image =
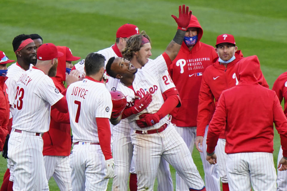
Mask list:
[[12,128],[34,133],[47,132],[51,105],[63,97],[53,80],[33,67],[22,74],[16,86]]

